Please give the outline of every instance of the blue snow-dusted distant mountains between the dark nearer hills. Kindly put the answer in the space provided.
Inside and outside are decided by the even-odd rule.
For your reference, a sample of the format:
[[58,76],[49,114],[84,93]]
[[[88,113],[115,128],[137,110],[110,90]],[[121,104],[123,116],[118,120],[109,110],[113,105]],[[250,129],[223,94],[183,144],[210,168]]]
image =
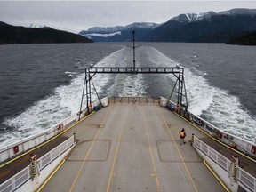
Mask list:
[[256,9],[232,9],[225,12],[180,14],[162,24],[132,23],[110,28],[94,27],[79,34],[93,41],[211,42],[224,43],[256,31]]

